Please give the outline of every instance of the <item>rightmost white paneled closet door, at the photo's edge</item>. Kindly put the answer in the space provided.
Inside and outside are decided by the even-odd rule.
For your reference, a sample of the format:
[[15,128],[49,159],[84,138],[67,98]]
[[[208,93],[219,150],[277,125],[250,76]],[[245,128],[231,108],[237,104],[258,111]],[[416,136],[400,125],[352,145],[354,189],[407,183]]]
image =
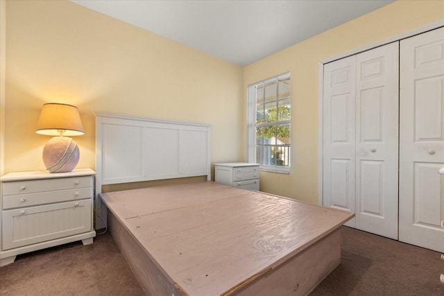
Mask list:
[[444,28],[400,44],[400,241],[444,252]]

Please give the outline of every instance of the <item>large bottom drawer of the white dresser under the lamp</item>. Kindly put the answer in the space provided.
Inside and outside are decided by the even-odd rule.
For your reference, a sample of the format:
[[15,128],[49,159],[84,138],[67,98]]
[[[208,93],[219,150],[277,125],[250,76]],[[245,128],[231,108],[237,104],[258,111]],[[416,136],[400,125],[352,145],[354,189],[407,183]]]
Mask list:
[[2,250],[90,232],[92,200],[2,211]]

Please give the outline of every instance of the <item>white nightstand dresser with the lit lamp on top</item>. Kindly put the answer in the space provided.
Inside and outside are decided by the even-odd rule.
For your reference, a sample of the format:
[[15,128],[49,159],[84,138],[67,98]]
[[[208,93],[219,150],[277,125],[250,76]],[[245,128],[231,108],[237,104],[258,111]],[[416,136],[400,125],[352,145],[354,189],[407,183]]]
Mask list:
[[0,178],[0,266],[26,252],[92,243],[94,171],[8,173]]

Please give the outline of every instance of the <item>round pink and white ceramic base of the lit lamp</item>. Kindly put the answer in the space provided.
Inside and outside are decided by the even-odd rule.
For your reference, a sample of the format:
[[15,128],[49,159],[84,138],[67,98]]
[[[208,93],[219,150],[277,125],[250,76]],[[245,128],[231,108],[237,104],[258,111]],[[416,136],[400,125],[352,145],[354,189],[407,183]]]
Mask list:
[[53,137],[43,148],[43,163],[50,173],[67,173],[76,167],[80,152],[69,137]]

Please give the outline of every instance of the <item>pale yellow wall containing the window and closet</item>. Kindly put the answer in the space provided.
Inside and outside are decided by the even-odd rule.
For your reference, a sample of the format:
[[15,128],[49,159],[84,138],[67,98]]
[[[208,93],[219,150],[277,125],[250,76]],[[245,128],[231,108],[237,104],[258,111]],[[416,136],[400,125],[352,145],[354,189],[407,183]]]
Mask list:
[[[396,1],[244,68],[244,88],[291,72],[291,173],[261,173],[261,190],[317,202],[318,63],[444,19],[444,1]],[[320,21],[322,21],[320,19]]]

